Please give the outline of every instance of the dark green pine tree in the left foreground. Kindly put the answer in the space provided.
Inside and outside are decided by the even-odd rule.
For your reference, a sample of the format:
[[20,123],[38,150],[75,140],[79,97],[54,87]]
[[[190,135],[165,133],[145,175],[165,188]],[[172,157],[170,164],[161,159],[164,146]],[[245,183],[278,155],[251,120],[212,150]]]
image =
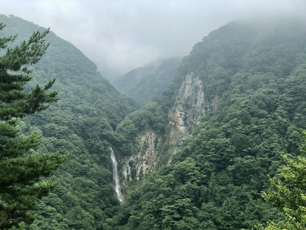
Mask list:
[[[0,31],[5,27],[0,23]],[[57,90],[51,90],[55,79],[44,87],[36,85],[24,91],[32,77],[30,65],[37,63],[46,52],[44,32],[34,32],[28,41],[15,48],[7,48],[17,35],[0,38],[0,229],[21,229],[30,224],[35,201],[56,185],[42,180],[50,176],[65,160],[58,152],[39,154],[33,150],[41,142],[38,133],[22,136],[18,119],[29,113],[46,109],[46,102],[56,102]]]

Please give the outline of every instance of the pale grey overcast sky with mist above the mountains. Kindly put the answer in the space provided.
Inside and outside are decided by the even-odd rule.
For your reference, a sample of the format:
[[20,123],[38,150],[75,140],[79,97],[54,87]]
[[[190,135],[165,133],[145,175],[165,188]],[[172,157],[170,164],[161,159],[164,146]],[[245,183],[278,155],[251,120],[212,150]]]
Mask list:
[[161,55],[188,55],[203,36],[235,19],[305,10],[305,0],[10,0],[0,14],[51,27],[107,75],[106,69],[124,74]]

